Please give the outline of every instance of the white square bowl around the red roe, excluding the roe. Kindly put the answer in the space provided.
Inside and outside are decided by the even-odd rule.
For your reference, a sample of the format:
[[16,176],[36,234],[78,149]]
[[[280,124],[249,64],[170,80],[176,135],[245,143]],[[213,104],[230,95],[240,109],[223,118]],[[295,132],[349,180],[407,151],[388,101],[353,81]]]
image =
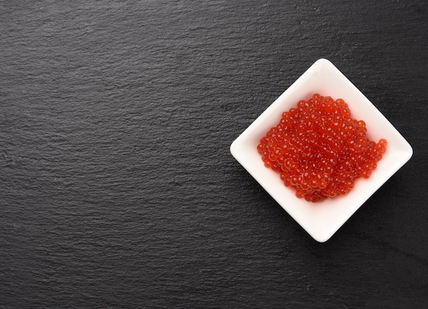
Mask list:
[[[278,172],[265,167],[257,145],[283,111],[295,107],[312,94],[342,98],[351,109],[351,117],[366,122],[367,137],[388,141],[387,150],[369,178],[358,178],[349,193],[321,202],[307,202],[285,187]],[[386,180],[400,169],[413,150],[382,113],[327,59],[319,59],[279,96],[230,146],[233,157],[269,193],[282,208],[316,241],[324,242],[370,198]]]

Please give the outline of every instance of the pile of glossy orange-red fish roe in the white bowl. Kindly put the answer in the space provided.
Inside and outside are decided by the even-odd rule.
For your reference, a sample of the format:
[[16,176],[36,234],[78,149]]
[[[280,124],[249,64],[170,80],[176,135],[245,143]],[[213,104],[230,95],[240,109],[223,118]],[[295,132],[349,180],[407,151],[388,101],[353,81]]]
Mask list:
[[369,178],[376,168],[386,140],[375,143],[366,131],[344,100],[314,94],[282,113],[257,150],[297,198],[317,202],[348,193],[357,178]]

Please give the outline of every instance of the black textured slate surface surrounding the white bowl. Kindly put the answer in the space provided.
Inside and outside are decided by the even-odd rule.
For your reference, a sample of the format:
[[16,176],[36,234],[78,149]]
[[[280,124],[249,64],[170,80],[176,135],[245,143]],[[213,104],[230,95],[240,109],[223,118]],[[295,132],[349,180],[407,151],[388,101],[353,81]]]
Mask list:
[[[425,1],[1,1],[1,308],[423,308]],[[330,59],[414,156],[326,243],[230,143]]]

